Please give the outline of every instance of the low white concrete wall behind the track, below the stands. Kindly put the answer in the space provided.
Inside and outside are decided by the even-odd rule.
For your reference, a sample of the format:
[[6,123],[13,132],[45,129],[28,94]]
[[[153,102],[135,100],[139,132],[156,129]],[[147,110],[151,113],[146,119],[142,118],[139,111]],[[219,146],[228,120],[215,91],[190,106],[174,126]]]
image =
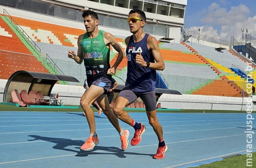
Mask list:
[[[4,89],[7,80],[0,79],[0,102],[3,102]],[[59,99],[63,100],[63,104],[79,105],[80,98],[85,92],[82,86],[60,85],[55,84],[52,93],[59,93]],[[254,105],[256,104],[256,96],[252,97]],[[168,109],[202,109],[202,110],[236,110],[242,108],[242,98],[222,97],[222,96],[203,96],[203,95],[172,95],[162,94],[157,103],[161,103],[162,108]],[[246,106],[247,98],[243,100],[243,111],[248,108]]]

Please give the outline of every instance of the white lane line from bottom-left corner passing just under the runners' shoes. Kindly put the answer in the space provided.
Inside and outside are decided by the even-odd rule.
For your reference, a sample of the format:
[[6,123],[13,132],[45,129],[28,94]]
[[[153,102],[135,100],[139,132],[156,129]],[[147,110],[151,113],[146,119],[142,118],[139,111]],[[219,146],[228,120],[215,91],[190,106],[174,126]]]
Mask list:
[[[195,140],[188,140],[188,141],[177,141],[177,142],[169,142],[169,143],[166,143],[166,144],[175,144],[175,143],[183,143],[183,142],[190,142],[190,141],[200,141],[200,140],[208,140],[208,139],[216,139],[216,138],[227,138],[227,137],[234,137],[234,136],[240,136],[240,135],[246,135],[246,134],[228,135],[228,136],[224,136],[224,137],[213,137],[213,138],[195,139]],[[156,146],[156,145],[158,145],[158,144],[144,145],[144,146],[134,146],[134,147],[128,147],[128,148],[141,148],[141,147]],[[110,150],[107,150],[107,151],[118,151],[118,150],[110,149]],[[16,161],[9,161],[9,162],[0,162],[0,165],[8,164],[8,163],[27,162],[27,161],[34,161],[34,160],[43,160],[43,159],[51,159],[51,158],[60,158],[60,157],[67,157],[67,156],[83,155],[83,154],[90,154],[90,153],[99,153],[99,152],[106,152],[106,151],[104,150],[104,151],[86,152],[86,153],[79,153],[79,154],[49,156],[49,157],[44,157],[44,158],[34,158],[34,159],[16,160]]]

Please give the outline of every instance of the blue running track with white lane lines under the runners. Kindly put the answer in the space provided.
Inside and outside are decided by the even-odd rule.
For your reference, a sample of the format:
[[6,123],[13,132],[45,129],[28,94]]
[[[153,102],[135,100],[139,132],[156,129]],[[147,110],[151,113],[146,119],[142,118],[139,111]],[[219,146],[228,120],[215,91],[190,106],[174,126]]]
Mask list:
[[[146,125],[137,146],[121,150],[119,134],[95,113],[100,143],[80,151],[89,136],[86,117],[76,112],[0,112],[0,168],[175,168],[246,151],[247,113],[157,113],[168,145],[155,160],[158,140],[146,113],[130,116]],[[123,129],[134,128],[120,121]],[[256,126],[256,124],[253,124]],[[252,130],[253,131],[253,130]],[[253,148],[255,149],[255,148]]]

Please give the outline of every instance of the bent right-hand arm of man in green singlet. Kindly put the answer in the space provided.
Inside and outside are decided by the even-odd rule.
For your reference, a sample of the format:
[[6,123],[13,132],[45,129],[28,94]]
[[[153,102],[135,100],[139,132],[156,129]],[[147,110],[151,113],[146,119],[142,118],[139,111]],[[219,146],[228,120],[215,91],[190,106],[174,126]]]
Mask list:
[[121,63],[121,61],[123,60],[123,57],[125,55],[124,50],[121,47],[121,45],[116,41],[115,37],[112,34],[105,32],[104,33],[104,40],[105,40],[105,43],[112,45],[112,47],[118,52],[116,62],[108,70],[108,74],[111,74],[111,73],[115,74],[118,65]]

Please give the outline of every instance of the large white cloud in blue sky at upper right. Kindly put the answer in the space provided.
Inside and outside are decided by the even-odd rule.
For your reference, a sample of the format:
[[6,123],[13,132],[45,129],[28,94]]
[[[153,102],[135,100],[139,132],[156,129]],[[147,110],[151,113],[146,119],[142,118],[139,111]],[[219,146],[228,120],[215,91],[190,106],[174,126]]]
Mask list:
[[[202,35],[227,41],[230,41],[230,38],[234,36],[237,41],[240,41],[242,36],[240,28],[243,27],[244,24],[244,30],[246,27],[250,28],[248,34],[256,38],[256,15],[249,17],[250,13],[250,9],[243,4],[232,6],[230,10],[227,11],[226,8],[221,8],[217,3],[212,3],[208,7],[205,17],[201,20],[206,23],[206,25],[194,26],[190,29],[196,30],[196,33],[198,33],[198,28],[202,27],[203,29],[200,31]],[[214,29],[211,25],[220,26],[219,31]]]

